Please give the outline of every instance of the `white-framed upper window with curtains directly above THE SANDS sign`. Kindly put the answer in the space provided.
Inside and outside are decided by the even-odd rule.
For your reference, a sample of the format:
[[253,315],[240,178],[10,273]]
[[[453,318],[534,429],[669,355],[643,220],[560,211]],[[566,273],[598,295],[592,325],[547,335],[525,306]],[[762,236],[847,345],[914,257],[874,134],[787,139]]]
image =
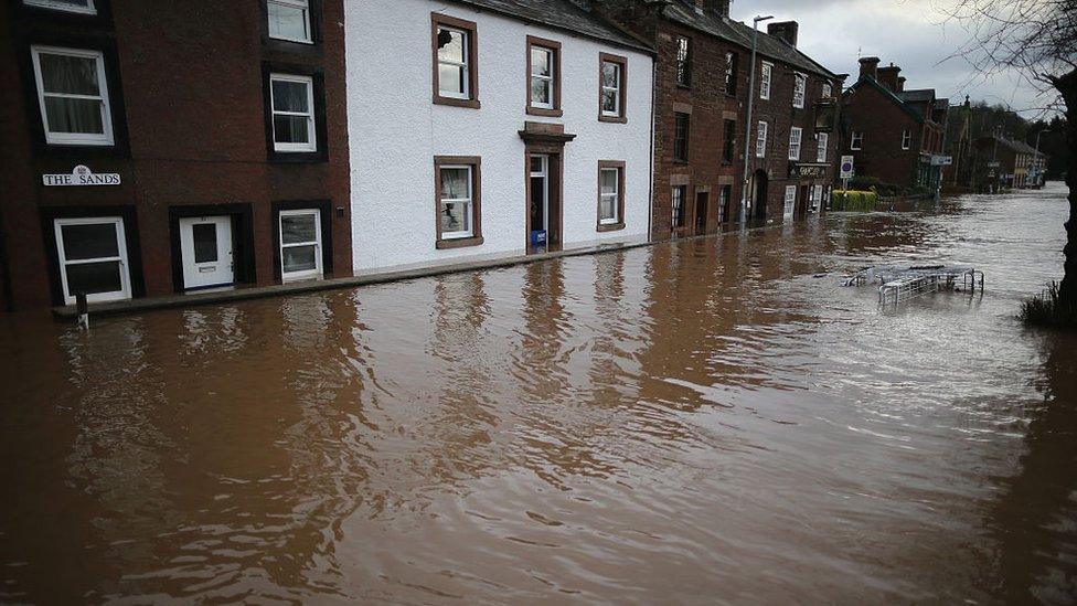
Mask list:
[[45,142],[110,146],[111,110],[100,51],[31,47]]

